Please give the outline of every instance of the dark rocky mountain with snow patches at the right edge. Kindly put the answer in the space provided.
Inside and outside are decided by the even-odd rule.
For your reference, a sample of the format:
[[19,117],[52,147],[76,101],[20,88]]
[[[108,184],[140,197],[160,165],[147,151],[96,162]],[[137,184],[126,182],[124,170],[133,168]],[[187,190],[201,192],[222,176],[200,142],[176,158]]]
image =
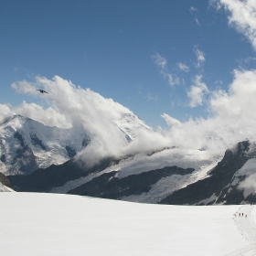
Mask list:
[[162,204],[242,204],[256,202],[256,144],[244,141],[226,151],[208,176],[175,191]]

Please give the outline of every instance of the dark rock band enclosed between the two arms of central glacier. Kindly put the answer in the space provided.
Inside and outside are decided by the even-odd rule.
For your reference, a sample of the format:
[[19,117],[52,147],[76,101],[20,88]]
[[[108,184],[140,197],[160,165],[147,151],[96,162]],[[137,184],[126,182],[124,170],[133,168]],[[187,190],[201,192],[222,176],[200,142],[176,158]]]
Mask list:
[[163,177],[172,175],[184,176],[191,174],[193,171],[194,169],[192,168],[183,169],[177,166],[170,166],[123,178],[117,177],[116,174],[118,172],[112,171],[70,190],[68,194],[120,199],[147,193]]

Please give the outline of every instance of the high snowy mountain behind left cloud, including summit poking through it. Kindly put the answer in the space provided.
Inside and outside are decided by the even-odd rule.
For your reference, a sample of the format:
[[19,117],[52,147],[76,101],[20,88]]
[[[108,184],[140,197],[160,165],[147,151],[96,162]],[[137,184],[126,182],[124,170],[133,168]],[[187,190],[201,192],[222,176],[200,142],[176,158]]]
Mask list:
[[[123,113],[113,123],[127,143],[133,141],[134,130],[151,130],[132,112]],[[63,164],[90,144],[92,138],[93,134],[82,126],[60,129],[14,115],[0,125],[0,170],[6,175],[27,175],[38,168]]]

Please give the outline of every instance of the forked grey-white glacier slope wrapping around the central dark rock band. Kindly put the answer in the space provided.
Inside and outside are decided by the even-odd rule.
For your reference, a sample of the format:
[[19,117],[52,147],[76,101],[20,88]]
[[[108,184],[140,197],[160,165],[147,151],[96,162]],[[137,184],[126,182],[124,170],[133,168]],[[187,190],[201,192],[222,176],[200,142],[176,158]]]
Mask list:
[[[123,200],[157,203],[161,198],[166,197],[172,192],[186,187],[188,184],[197,182],[197,180],[208,175],[212,169],[221,160],[220,155],[209,155],[207,151],[189,150],[184,148],[171,148],[157,152],[153,155],[138,154],[128,159],[123,159],[119,164],[112,165],[101,172],[91,173],[88,176],[71,180],[62,187],[51,189],[52,193],[67,193],[69,190],[90,182],[93,178],[102,174],[117,172],[116,177],[123,179],[127,176],[139,175],[155,169],[161,169],[165,166],[178,166],[181,168],[193,168],[192,174],[185,176],[168,176],[161,178],[146,194],[123,197]],[[127,185],[129,186],[129,185]]]

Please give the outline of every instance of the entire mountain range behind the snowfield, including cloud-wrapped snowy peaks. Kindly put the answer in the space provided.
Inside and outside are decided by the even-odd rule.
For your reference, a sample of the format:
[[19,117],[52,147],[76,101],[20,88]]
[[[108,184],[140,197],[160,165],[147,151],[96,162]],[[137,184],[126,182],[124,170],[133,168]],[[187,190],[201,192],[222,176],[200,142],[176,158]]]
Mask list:
[[[116,125],[128,144],[136,127],[151,129],[132,114]],[[74,157],[92,139],[83,128],[48,127],[16,115],[0,126],[0,138],[0,170],[16,191],[176,205],[256,202],[256,145],[249,141],[225,155],[172,147],[86,165]]]

